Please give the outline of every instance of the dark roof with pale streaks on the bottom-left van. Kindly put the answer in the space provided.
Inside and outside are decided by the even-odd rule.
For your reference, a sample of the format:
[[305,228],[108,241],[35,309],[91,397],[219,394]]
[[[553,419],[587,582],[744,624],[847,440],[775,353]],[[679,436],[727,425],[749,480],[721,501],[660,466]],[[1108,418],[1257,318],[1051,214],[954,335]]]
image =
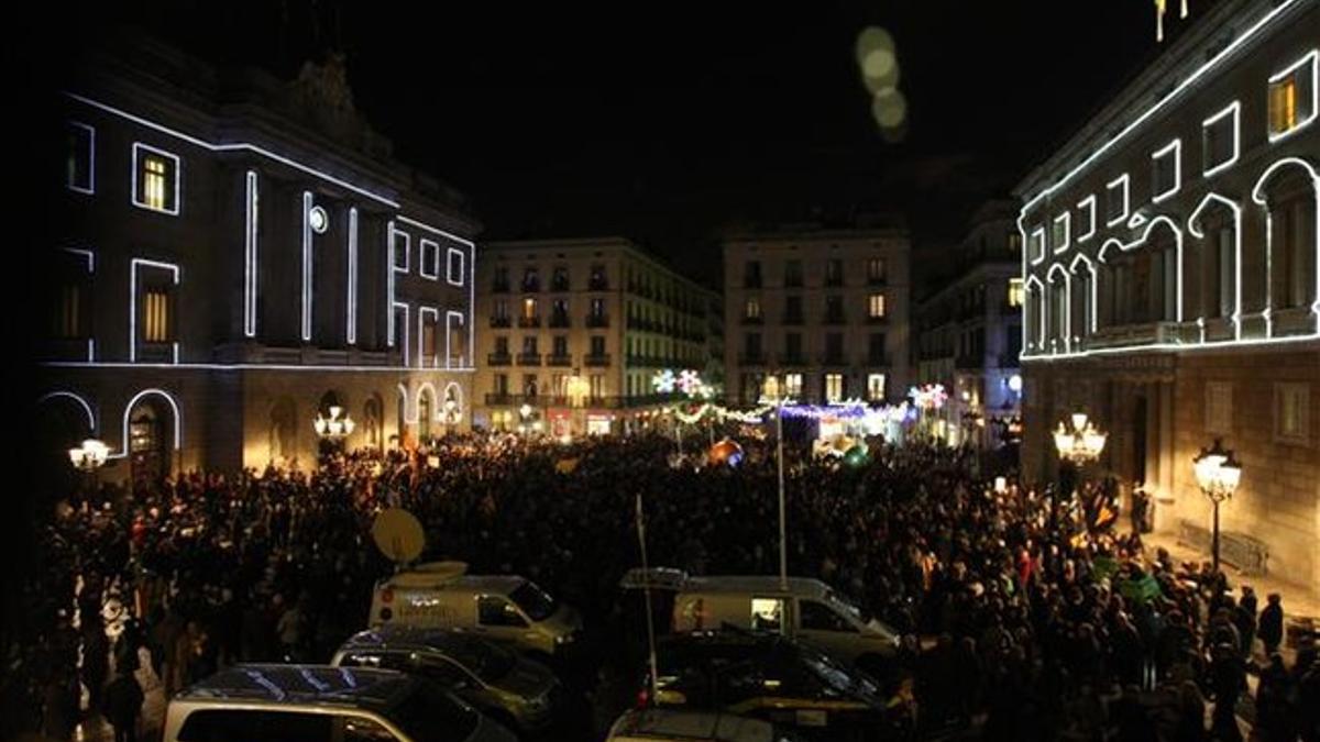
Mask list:
[[194,683],[176,701],[370,706],[383,709],[417,680],[389,669],[296,664],[240,664]]

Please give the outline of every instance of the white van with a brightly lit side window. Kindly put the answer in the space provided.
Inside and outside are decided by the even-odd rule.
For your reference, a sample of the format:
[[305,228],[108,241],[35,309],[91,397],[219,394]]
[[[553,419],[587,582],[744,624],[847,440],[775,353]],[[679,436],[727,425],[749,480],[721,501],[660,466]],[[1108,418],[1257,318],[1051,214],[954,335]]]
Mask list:
[[867,615],[820,580],[789,577],[781,586],[774,576],[689,577],[656,568],[631,569],[620,586],[672,590],[673,631],[743,631],[785,634],[878,671],[899,648],[898,632]]

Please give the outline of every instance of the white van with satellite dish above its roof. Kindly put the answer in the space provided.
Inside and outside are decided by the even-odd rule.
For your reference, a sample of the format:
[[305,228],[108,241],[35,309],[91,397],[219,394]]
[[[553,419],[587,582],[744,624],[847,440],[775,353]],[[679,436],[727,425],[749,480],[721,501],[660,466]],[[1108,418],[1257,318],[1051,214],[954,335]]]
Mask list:
[[371,627],[401,624],[470,631],[529,652],[564,652],[582,617],[513,574],[467,574],[461,561],[421,564],[376,584]]

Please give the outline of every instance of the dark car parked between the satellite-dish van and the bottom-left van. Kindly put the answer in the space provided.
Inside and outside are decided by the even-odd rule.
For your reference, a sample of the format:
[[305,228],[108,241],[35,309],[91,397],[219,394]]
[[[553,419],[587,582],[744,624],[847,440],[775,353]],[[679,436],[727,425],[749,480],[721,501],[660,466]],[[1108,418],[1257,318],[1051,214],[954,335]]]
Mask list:
[[434,680],[490,716],[521,730],[550,724],[561,689],[545,665],[455,631],[385,626],[348,638],[335,667],[378,667]]

